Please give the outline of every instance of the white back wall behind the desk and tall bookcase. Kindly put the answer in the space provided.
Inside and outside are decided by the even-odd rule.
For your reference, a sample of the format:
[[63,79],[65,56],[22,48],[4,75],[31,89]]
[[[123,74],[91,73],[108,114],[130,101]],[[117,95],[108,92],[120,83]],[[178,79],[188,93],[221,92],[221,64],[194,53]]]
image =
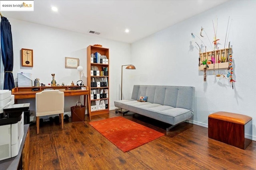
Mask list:
[[[101,44],[110,49],[110,109],[114,108],[114,101],[120,100],[121,65],[130,61],[130,44],[110,41],[97,36],[84,35],[38,25],[34,23],[8,18],[12,26],[12,40],[14,51],[14,81],[18,72],[32,73],[32,79],[40,78],[40,83],[48,84],[55,73],[57,84],[75,84],[80,79],[79,72],[74,68],[65,68],[65,57],[80,59],[84,70],[82,80],[87,84],[86,48],[88,45]],[[33,67],[22,67],[20,50],[33,49]],[[118,83],[117,83],[118,82]],[[119,94],[118,94],[119,93]],[[79,96],[65,97],[65,112],[70,112]],[[35,100],[18,100],[18,103],[30,103],[30,110],[35,111]]]

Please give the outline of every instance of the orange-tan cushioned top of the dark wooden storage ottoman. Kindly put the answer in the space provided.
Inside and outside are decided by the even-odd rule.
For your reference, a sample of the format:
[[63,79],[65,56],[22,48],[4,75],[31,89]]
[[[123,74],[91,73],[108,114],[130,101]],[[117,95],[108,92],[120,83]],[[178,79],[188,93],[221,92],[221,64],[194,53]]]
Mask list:
[[239,123],[242,125],[245,125],[248,121],[252,120],[252,117],[246,116],[246,115],[241,115],[238,113],[230,113],[226,111],[218,111],[216,113],[210,114],[208,117],[214,118],[214,119],[219,119],[219,120],[224,120],[224,121],[229,121],[233,123]]

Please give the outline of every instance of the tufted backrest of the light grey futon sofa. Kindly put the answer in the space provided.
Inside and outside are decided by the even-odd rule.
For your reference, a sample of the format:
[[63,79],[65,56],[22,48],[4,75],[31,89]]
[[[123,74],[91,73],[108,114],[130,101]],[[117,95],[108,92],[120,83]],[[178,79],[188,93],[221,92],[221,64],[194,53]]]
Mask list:
[[134,85],[132,99],[147,96],[147,102],[189,109],[194,112],[195,88],[189,86]]

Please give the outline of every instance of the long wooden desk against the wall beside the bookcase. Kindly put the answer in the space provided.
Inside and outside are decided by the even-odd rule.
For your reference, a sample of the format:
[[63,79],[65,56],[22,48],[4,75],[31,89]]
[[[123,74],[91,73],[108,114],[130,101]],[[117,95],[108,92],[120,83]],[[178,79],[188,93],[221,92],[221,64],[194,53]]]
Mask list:
[[[12,89],[12,94],[14,94],[14,102],[17,104],[18,103],[18,99],[33,99],[36,98],[36,93],[38,92],[42,92],[44,89],[47,88],[52,88],[54,90],[60,90],[62,92],[64,92],[64,96],[80,96],[80,95],[84,95],[84,106],[86,106],[86,96],[87,96],[87,101],[89,102],[89,97],[90,97],[90,93],[89,93],[89,88],[87,86],[86,90],[69,90],[72,88],[77,88],[79,86],[44,86],[44,87],[15,87]],[[38,91],[32,91],[33,89],[38,89]],[[88,103],[88,107],[89,107],[89,103]],[[88,108],[87,108],[88,109]],[[88,111],[88,114],[89,111]],[[90,115],[89,115],[90,116]]]

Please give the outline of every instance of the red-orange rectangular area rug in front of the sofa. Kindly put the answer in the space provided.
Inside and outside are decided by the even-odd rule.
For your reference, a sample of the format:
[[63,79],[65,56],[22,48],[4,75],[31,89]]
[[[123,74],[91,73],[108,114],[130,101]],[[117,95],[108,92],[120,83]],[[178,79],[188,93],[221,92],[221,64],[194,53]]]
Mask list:
[[137,148],[164,135],[124,117],[113,117],[93,121],[89,124],[123,152]]

